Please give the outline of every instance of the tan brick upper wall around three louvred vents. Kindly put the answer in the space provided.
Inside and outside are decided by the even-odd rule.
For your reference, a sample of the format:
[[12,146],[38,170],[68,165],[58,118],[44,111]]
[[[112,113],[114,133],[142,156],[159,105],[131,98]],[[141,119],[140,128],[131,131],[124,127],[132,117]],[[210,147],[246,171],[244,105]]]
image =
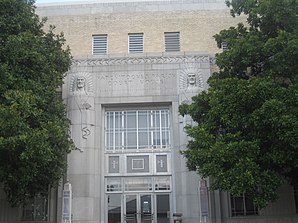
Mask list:
[[[210,0],[216,1],[220,0]],[[148,10],[150,4],[143,4],[143,11],[136,10],[136,5],[140,7],[137,3],[123,3],[122,8],[120,3],[114,3],[118,10],[113,8],[110,12],[101,10],[105,4],[84,4],[81,5],[84,13],[79,10],[80,5],[57,5],[37,8],[37,13],[41,17],[46,16],[47,24],[55,25],[57,32],[64,33],[74,57],[92,56],[92,35],[95,34],[108,35],[108,54],[111,55],[128,53],[128,33],[144,33],[145,53],[164,52],[164,32],[180,32],[181,51],[219,52],[213,35],[236,25],[240,21],[239,17],[231,17],[229,10],[223,9],[219,3],[216,3],[220,5],[219,8],[203,9],[201,4],[205,0],[192,2],[201,3],[192,3],[198,5],[193,10],[185,7],[179,10],[181,3],[151,2],[151,6],[159,6],[160,10]],[[106,4],[109,5],[113,3]],[[169,6],[168,10],[166,6]]]

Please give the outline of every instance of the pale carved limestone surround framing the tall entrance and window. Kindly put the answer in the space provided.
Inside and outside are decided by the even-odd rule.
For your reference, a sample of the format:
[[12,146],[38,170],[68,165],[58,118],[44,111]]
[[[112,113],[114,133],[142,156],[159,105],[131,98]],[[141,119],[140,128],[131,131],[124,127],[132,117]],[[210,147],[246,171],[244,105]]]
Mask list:
[[[182,212],[184,221],[197,221],[199,216],[197,202],[199,178],[194,173],[189,173],[186,170],[183,158],[179,154],[179,150],[185,144],[181,145],[179,140],[179,129],[182,130],[184,125],[179,123],[178,105],[181,103],[181,99],[188,98],[190,100],[192,95],[207,89],[208,85],[206,82],[210,76],[211,62],[212,56],[198,53],[189,53],[187,55],[184,53],[170,55],[156,53],[150,56],[139,55],[138,57],[130,57],[128,55],[127,57],[117,58],[104,57],[74,60],[66,79],[67,81],[63,86],[63,91],[68,92],[64,94],[64,98],[67,101],[69,117],[73,124],[73,138],[78,147],[78,151],[72,152],[68,157],[68,179],[72,183],[73,188],[79,187],[79,189],[74,189],[74,222],[83,220],[82,213],[75,210],[78,210],[78,206],[82,205],[84,201],[88,201],[86,206],[96,213],[88,212],[88,217],[99,215],[102,219],[101,222],[105,222],[107,219],[104,209],[92,206],[92,202],[89,202],[90,199],[96,201],[105,197],[104,192],[99,197],[95,195],[95,185],[98,186],[98,190],[99,188],[102,188],[102,191],[104,189],[103,175],[100,176],[100,173],[95,173],[96,163],[105,163],[104,166],[101,166],[103,173],[107,173],[108,168],[107,159],[105,158],[107,154],[105,154],[103,149],[103,129],[99,127],[104,125],[104,113],[101,112],[101,117],[94,116],[94,114],[96,114],[97,110],[110,106],[122,109],[127,104],[133,106],[134,104],[140,105],[140,103],[143,104],[141,107],[155,106],[158,108],[160,104],[164,104],[163,106],[171,109],[173,129],[172,151],[170,152],[171,156],[169,156],[172,157],[171,165],[169,165],[169,167],[172,166],[170,173],[172,175],[173,188],[171,193],[171,213]],[[72,80],[74,76],[78,76],[76,73],[81,73],[87,67],[88,75],[94,80],[94,83],[92,83],[94,91],[92,94],[88,94],[88,96],[86,93],[83,97],[82,95],[74,94],[75,90],[72,87]],[[194,73],[197,76],[193,86],[189,85],[188,73]],[[88,99],[88,104],[93,105],[94,102],[94,107],[92,106],[86,111],[81,111],[80,103],[77,102],[79,97]],[[91,132],[87,139],[82,138],[80,133],[82,130],[80,126],[82,112],[89,112],[85,117],[85,123],[88,128],[90,126],[89,130]],[[182,135],[185,138],[184,132]],[[98,156],[94,155],[95,151],[98,152]],[[167,154],[169,151],[165,151],[165,153]],[[98,168],[100,169],[100,167]],[[92,177],[95,177],[97,181],[91,180]],[[92,222],[96,221],[96,219],[92,219],[92,217],[87,219],[86,216],[85,221]]]

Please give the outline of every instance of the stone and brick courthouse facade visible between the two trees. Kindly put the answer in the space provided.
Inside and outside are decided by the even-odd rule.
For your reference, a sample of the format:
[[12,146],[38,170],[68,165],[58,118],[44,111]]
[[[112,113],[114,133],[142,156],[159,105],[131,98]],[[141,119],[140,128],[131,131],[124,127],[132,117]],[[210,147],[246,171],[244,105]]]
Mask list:
[[[224,2],[37,5],[72,51],[62,97],[76,150],[49,197],[10,208],[0,192],[0,223],[69,222],[70,211],[74,223],[298,222],[292,187],[258,210],[245,196],[209,191],[180,153],[192,121],[178,107],[208,89],[222,51],[212,36],[240,21]],[[63,204],[70,185],[71,207]]]

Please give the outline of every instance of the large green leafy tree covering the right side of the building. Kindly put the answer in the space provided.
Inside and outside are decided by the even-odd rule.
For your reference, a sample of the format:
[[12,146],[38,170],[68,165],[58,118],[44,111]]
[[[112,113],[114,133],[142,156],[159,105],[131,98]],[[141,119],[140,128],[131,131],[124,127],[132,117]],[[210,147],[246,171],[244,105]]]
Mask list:
[[277,189],[298,179],[298,6],[296,0],[227,1],[247,23],[215,35],[228,50],[206,92],[180,106],[187,126],[190,170],[213,189],[245,193],[263,208]]

